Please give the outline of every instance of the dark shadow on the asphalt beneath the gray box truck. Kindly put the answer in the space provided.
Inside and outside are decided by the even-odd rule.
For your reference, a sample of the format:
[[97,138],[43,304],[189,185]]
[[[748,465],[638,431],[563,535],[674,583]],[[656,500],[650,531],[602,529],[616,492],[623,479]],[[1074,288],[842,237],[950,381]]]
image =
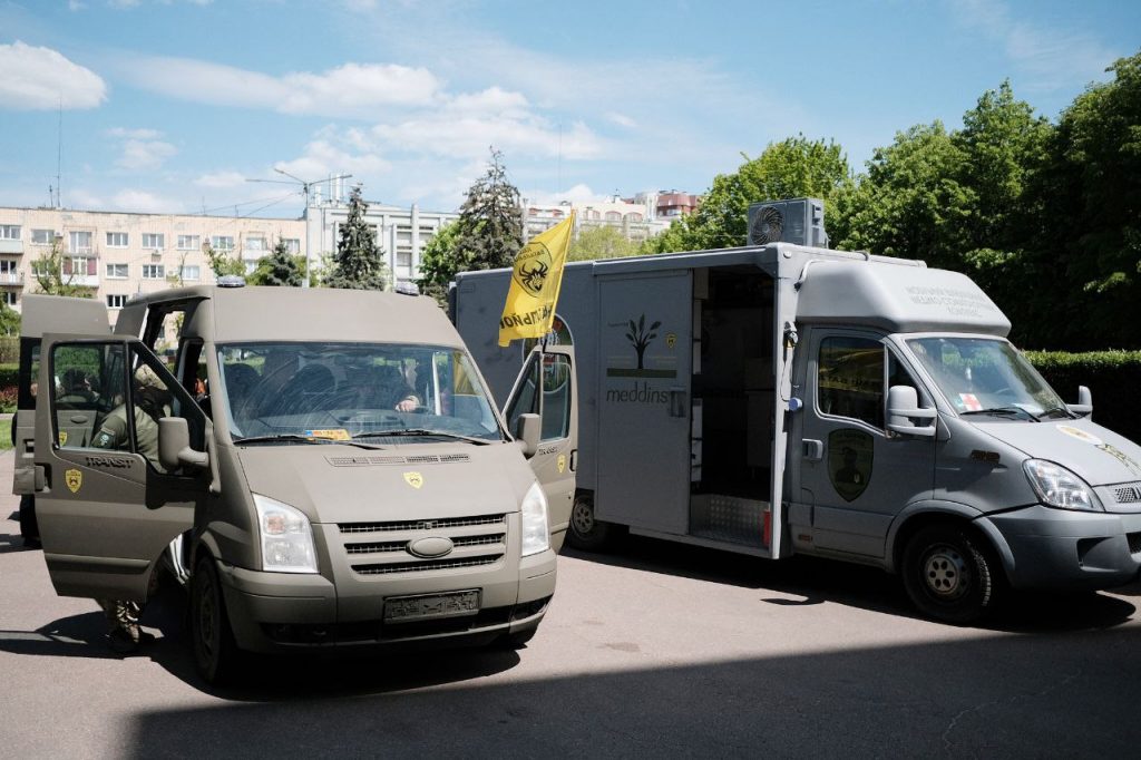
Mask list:
[[[771,561],[644,536],[625,536],[609,553],[569,547],[563,553],[612,567],[800,597],[761,597],[771,605],[807,606],[830,601],[887,615],[923,618],[912,607],[898,576],[839,560],[790,557]],[[1115,589],[1114,593],[1141,596],[1141,583]],[[1004,589],[998,608],[973,628],[1018,633],[1089,631],[1126,623],[1135,612],[1134,605],[1106,593],[1030,593]]]

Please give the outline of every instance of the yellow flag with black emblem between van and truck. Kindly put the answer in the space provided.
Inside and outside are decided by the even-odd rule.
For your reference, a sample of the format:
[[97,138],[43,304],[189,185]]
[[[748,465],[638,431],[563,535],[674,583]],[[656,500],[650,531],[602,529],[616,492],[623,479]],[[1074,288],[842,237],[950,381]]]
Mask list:
[[574,211],[564,221],[532,237],[515,257],[511,289],[500,318],[500,346],[517,338],[542,338],[551,331],[572,231]]

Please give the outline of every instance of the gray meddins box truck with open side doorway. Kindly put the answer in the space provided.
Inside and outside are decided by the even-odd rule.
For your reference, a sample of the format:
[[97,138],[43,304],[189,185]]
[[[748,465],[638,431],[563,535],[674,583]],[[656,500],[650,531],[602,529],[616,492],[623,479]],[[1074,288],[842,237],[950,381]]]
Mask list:
[[[452,316],[493,391],[509,270]],[[1141,448],[1066,404],[962,274],[787,243],[567,266],[581,451],[569,541],[631,533],[899,573],[966,622],[1004,584],[1104,589],[1141,568]]]

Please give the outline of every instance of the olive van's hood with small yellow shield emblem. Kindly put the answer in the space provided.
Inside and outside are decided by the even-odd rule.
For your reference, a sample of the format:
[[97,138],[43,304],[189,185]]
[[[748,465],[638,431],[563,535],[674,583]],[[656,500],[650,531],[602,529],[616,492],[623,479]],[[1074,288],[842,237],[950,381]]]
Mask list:
[[250,490],[314,523],[515,512],[535,476],[515,444],[340,444],[237,448]]

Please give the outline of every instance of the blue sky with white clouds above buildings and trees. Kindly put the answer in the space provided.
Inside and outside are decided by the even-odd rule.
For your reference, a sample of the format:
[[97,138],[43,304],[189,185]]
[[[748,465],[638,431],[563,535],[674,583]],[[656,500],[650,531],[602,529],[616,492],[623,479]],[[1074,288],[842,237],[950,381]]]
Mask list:
[[[861,169],[987,89],[1057,119],[1141,2],[0,0],[0,205],[299,216],[275,169],[459,207],[701,193],[802,132]],[[62,104],[62,161],[58,139]]]

